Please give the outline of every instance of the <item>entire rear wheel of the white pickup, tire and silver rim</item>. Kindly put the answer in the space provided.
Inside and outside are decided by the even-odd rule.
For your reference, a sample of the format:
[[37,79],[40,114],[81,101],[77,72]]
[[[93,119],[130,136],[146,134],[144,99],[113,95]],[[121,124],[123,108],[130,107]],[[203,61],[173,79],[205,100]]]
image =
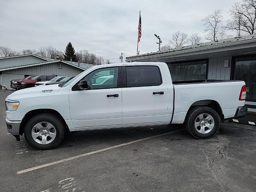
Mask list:
[[192,108],[185,120],[185,127],[191,135],[198,139],[209,139],[219,130],[220,118],[210,107]]

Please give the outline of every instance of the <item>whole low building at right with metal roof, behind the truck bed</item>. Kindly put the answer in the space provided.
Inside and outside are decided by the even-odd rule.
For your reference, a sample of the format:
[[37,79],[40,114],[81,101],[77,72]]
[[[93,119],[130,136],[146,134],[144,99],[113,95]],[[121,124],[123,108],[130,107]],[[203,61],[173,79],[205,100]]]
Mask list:
[[256,34],[126,57],[125,61],[167,63],[173,81],[244,80],[245,104],[256,112]]

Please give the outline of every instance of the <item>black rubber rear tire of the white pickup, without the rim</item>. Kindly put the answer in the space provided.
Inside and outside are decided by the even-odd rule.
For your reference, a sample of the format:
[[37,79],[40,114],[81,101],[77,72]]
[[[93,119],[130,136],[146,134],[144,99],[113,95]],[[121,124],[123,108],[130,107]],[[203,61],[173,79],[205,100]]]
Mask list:
[[[199,133],[195,128],[195,121],[198,115],[207,113],[213,117],[214,126],[209,133]],[[192,108],[188,111],[188,115],[185,119],[185,127],[192,136],[196,137],[197,139],[209,139],[213,137],[217,131],[219,130],[220,118],[218,113],[210,107],[205,106],[198,106]]]

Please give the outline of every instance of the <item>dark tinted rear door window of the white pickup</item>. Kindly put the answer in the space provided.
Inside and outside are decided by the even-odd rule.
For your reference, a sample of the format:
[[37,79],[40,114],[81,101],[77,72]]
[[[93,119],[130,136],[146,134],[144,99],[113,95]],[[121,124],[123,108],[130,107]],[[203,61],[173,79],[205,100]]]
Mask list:
[[127,66],[127,87],[148,87],[162,84],[160,70],[157,66]]

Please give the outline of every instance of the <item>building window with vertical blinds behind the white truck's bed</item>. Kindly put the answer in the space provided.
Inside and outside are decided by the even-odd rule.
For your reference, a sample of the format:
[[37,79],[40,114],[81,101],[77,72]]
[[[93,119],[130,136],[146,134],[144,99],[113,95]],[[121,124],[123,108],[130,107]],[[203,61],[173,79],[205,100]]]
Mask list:
[[167,63],[172,81],[206,79],[207,61]]

